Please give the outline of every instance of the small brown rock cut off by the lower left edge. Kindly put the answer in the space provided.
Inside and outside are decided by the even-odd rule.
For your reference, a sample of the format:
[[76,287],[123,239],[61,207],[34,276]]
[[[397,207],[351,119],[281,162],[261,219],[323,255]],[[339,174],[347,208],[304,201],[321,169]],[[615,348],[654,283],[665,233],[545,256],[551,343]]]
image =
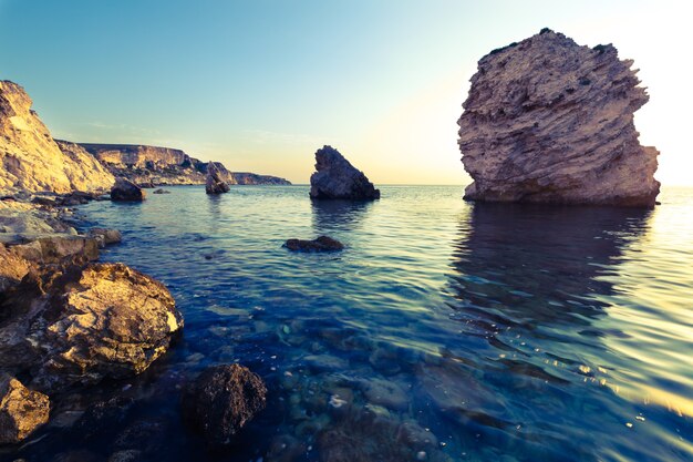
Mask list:
[[22,441],[48,422],[49,398],[29,390],[7,373],[0,374],[0,444]]

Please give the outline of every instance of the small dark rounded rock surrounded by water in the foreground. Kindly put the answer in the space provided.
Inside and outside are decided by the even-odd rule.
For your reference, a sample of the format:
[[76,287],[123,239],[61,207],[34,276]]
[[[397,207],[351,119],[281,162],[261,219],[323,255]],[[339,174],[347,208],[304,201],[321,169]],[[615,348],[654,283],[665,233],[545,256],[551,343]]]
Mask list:
[[211,446],[226,445],[266,405],[259,376],[239,365],[206,369],[183,396],[183,417]]

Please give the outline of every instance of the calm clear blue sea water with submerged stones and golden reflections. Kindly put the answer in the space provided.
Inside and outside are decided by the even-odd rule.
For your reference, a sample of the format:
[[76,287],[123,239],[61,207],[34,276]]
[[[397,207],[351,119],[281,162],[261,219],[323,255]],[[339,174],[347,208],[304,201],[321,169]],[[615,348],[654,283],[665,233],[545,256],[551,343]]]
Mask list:
[[[438,186],[370,204],[167,189],[81,211],[124,232],[103,260],[169,287],[183,339],[135,380],[64,398],[0,458],[693,460],[693,189],[651,212],[474,205]],[[322,234],[346,249],[281,247]],[[268,409],[210,454],[180,423],[179,388],[232,361],[265,379]],[[114,394],[135,404],[107,431],[71,428]]]

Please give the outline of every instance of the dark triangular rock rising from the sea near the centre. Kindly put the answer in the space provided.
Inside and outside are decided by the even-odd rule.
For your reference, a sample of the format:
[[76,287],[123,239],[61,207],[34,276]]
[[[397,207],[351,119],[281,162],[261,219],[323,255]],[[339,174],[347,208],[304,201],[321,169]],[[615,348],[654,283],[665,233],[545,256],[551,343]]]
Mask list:
[[310,177],[310,197],[316,199],[380,198],[380,189],[332,146],[316,152],[316,173]]

